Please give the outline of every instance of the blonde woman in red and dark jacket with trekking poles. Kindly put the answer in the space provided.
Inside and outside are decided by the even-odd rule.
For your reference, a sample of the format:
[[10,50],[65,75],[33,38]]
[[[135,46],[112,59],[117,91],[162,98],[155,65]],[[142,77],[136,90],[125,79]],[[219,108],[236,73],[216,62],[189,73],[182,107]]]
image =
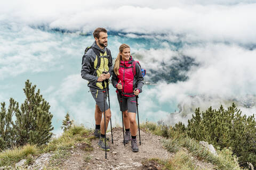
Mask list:
[[113,86],[117,88],[116,92],[120,111],[123,111],[125,126],[124,142],[128,143],[131,140],[132,151],[138,152],[135,95],[138,96],[142,92],[143,77],[140,64],[138,61],[133,60],[130,47],[127,44],[122,44],[119,47],[119,54],[115,61],[111,81]]

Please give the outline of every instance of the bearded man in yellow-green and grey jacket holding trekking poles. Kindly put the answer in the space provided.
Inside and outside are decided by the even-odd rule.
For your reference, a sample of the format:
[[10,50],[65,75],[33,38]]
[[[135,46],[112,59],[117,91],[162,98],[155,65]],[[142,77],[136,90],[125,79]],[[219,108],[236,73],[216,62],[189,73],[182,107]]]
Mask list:
[[[105,146],[105,120],[106,130],[108,122],[111,118],[111,112],[107,104],[107,81],[113,70],[113,62],[108,46],[108,34],[105,28],[97,28],[93,32],[95,39],[91,47],[87,47],[83,56],[82,78],[88,80],[91,94],[96,101],[95,105],[95,131],[94,135],[99,139],[98,145],[102,150],[110,150],[109,146]],[[104,90],[105,89],[105,90]],[[105,93],[105,99],[103,99]],[[105,108],[104,108],[105,103]],[[104,112],[106,115],[104,116]],[[103,115],[103,118],[102,118]],[[107,142],[106,142],[107,143]],[[106,147],[106,149],[105,149]]]

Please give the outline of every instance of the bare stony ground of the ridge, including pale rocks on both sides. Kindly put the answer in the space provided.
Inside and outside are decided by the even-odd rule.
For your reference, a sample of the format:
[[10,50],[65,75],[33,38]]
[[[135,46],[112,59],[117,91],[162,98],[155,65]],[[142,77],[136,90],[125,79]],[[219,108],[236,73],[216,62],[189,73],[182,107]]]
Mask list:
[[[149,161],[149,159],[172,159],[174,153],[163,148],[161,142],[163,137],[144,130],[140,131],[140,136],[141,145],[139,145],[139,135],[137,135],[139,152],[132,152],[131,142],[124,146],[122,128],[113,128],[114,143],[111,143],[111,133],[107,133],[107,137],[110,138],[110,151],[107,151],[107,159],[105,151],[98,146],[99,139],[92,139],[92,146],[83,142],[76,143],[75,147],[65,151],[65,154],[68,155],[65,158],[54,158],[54,154],[46,153],[34,158],[33,164],[24,169],[162,169],[161,165],[154,160]],[[184,150],[186,151],[186,149]],[[214,169],[210,163],[205,163],[194,157],[191,159],[199,169]],[[25,162],[25,159],[21,160],[16,167],[23,169]]]

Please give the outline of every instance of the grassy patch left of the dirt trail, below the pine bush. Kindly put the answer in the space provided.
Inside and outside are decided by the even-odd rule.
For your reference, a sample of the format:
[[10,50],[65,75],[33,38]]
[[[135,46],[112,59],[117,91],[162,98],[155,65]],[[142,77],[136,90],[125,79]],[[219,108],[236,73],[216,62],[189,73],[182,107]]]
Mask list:
[[[73,126],[68,131],[64,132],[60,137],[53,138],[45,146],[24,146],[20,148],[13,148],[5,150],[0,153],[0,167],[1,166],[15,166],[21,159],[27,159],[26,164],[32,164],[32,157],[39,156],[43,153],[51,152],[53,155],[50,160],[49,167],[45,169],[59,169],[61,160],[70,156],[69,150],[75,147],[75,143],[86,143],[87,147],[84,150],[92,150],[91,139],[89,137],[91,130],[85,129],[83,126]],[[84,157],[85,162],[90,160],[90,157]]]

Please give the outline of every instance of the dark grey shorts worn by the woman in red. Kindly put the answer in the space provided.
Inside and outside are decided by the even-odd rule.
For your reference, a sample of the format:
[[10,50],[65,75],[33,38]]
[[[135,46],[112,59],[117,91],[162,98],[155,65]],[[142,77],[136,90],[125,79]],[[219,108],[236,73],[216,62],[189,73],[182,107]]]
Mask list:
[[[122,104],[120,102],[120,95],[117,93],[117,99],[120,106],[120,111],[127,111],[132,113],[137,113],[137,106],[136,106],[136,97],[125,97],[122,96]],[[123,109],[121,108],[123,106]]]

